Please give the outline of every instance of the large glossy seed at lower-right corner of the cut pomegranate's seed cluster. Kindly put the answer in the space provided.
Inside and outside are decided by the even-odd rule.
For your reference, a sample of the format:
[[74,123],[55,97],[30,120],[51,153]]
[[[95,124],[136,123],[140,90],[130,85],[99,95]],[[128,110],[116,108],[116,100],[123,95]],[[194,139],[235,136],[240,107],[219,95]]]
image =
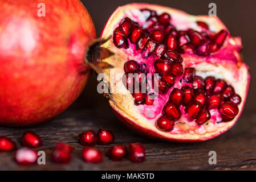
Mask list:
[[219,111],[223,121],[231,121],[239,113],[238,106],[231,101],[222,104]]

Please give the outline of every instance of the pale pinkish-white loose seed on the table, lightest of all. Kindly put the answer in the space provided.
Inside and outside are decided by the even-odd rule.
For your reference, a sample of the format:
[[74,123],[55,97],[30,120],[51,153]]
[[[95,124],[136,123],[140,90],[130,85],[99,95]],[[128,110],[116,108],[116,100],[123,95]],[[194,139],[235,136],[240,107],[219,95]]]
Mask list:
[[15,154],[15,161],[21,165],[35,164],[37,159],[37,152],[29,148],[20,148]]

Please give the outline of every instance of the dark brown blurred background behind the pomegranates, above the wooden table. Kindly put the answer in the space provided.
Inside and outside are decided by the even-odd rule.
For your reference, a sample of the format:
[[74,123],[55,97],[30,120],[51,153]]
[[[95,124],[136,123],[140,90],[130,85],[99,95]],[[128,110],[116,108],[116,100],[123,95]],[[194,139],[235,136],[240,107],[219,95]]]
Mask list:
[[[82,1],[84,6],[94,20],[97,36],[100,36],[101,30],[109,16],[115,11],[117,6],[122,6],[132,2],[155,3],[159,5],[173,7],[180,9],[192,15],[208,15],[209,3],[216,3],[217,16],[224,22],[226,27],[233,36],[241,36],[244,46],[243,55],[245,63],[250,67],[251,85],[249,89],[249,96],[247,98],[245,110],[243,114],[253,113],[255,110],[255,96],[256,93],[256,1],[253,0],[236,0],[236,1],[202,1],[202,0],[145,0],[145,1],[127,1],[127,0],[94,0]],[[92,74],[91,80],[84,90],[79,101],[71,107],[72,109],[82,109],[84,107],[91,107],[95,110],[109,110],[107,102],[97,93],[96,90],[96,75]]]

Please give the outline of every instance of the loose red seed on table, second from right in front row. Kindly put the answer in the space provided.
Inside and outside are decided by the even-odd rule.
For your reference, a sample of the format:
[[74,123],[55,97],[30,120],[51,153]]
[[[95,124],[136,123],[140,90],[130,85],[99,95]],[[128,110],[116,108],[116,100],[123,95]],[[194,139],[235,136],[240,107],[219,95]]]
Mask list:
[[109,148],[108,158],[113,161],[122,160],[127,152],[126,147],[123,144],[119,144]]

